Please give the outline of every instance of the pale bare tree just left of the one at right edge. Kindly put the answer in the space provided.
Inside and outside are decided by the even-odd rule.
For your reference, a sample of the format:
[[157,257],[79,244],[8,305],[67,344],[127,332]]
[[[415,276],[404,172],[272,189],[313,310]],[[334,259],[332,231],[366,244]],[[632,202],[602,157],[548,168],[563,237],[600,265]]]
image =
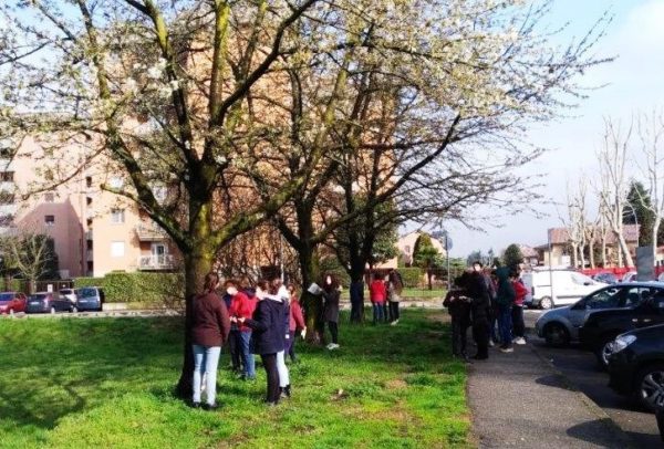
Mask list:
[[623,129],[621,124],[614,124],[610,117],[604,119],[604,142],[599,152],[600,173],[603,188],[600,199],[606,210],[606,221],[619,246],[618,264],[634,267],[634,260],[624,237],[623,215],[627,200],[629,179],[625,174],[627,150],[632,137],[633,123]]

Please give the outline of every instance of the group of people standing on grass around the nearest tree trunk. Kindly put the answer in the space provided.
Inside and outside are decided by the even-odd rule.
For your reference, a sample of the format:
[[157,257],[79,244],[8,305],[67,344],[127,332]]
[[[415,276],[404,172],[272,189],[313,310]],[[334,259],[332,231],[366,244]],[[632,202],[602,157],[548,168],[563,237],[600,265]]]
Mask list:
[[[217,273],[205,278],[204,290],[191,300],[190,333],[194,354],[194,408],[218,408],[216,401],[217,367],[221,347],[230,353],[232,369],[245,380],[256,379],[255,355],[259,355],[267,375],[267,404],[276,406],[291,396],[287,355],[297,361],[294,341],[307,335],[307,324],[294,285],[281,279],[261,280],[251,285],[248,279],[227,280],[225,292],[217,292]],[[320,289],[322,319],[332,335],[329,349],[339,348],[339,284],[332,275]],[[201,404],[205,379],[207,401]]]

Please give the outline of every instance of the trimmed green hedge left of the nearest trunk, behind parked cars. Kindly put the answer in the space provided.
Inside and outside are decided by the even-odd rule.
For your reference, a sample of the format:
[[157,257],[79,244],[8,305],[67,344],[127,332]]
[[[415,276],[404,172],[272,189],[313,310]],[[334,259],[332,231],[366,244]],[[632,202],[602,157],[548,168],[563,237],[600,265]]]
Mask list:
[[106,302],[174,303],[183,301],[185,294],[180,273],[113,272],[104,278],[75,279],[74,286],[101,286]]

